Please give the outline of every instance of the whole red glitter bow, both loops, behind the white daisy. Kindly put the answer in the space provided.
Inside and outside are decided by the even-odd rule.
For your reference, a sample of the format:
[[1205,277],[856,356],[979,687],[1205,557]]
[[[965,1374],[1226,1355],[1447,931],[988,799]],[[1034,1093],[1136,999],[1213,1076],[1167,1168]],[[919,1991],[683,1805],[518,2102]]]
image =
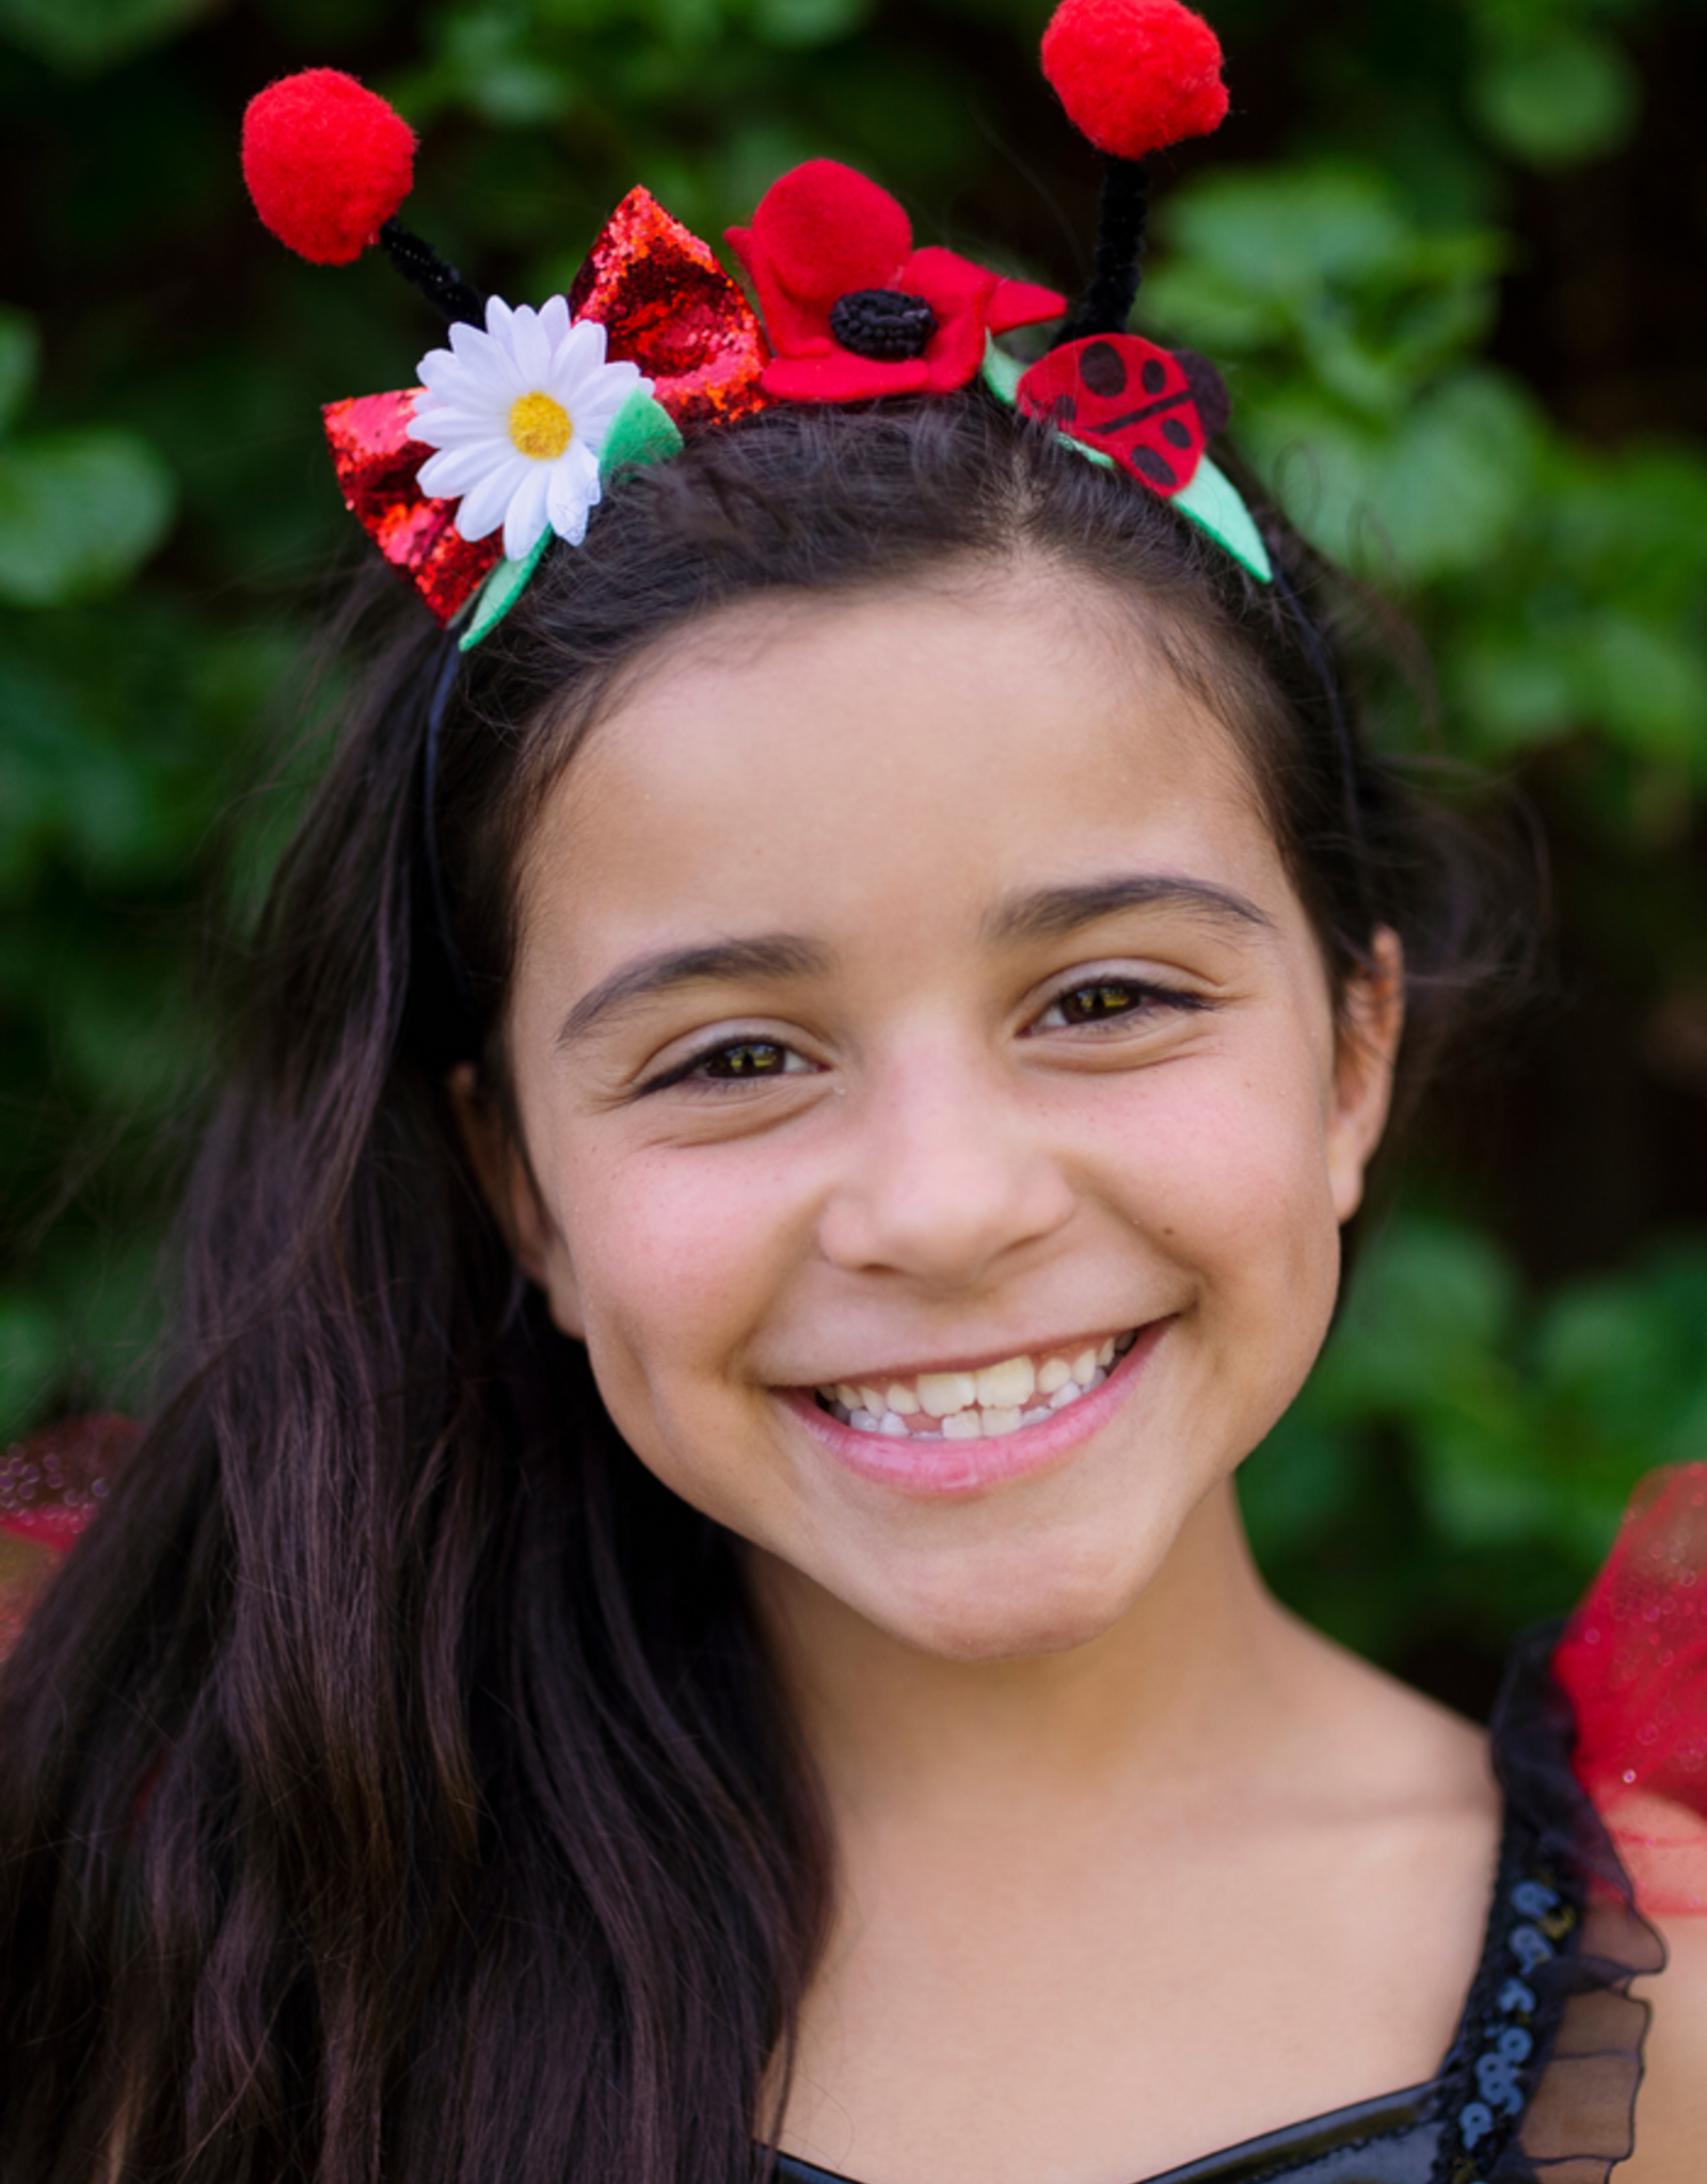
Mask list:
[[[765,336],[713,251],[647,190],[605,221],[568,293],[577,319],[605,328],[605,356],[627,358],[682,428],[765,406]],[[409,437],[417,389],[326,406],[343,502],[387,561],[450,622],[503,557],[498,533],[466,539],[457,502],[420,489],[433,450]]]

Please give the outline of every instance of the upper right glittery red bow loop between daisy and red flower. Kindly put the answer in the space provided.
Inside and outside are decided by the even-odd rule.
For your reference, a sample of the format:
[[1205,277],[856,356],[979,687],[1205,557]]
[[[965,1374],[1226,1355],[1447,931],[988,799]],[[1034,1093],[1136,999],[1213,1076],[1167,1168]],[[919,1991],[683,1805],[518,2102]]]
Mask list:
[[599,319],[605,354],[636,363],[684,432],[767,406],[769,352],[752,304],[649,190],[629,190],[605,221],[568,308]]

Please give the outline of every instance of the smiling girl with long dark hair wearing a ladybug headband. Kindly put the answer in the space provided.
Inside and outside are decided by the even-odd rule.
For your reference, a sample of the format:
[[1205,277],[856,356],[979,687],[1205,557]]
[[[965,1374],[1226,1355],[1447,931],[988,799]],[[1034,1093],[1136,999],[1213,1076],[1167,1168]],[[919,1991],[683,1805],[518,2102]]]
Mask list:
[[1692,2184],[1602,1625],[1491,1767],[1239,1531],[1510,919],[1206,367],[1128,286],[1014,389],[1038,290],[863,277],[822,166],[734,238],[765,352],[645,205],[481,330],[339,181],[457,321],[330,428],[461,642],[374,638],[9,1666],[0,2175],[1600,2184],[1635,2101]]

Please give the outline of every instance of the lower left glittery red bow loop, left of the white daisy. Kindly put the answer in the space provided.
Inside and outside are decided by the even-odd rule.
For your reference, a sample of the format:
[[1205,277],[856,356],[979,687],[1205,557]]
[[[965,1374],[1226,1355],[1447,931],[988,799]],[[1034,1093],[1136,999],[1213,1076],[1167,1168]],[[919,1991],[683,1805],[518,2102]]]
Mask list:
[[402,570],[426,605],[448,622],[503,559],[503,533],[466,539],[457,502],[428,500],[417,472],[433,452],[409,437],[417,389],[352,395],[326,404],[326,439],[343,505],[385,559]]

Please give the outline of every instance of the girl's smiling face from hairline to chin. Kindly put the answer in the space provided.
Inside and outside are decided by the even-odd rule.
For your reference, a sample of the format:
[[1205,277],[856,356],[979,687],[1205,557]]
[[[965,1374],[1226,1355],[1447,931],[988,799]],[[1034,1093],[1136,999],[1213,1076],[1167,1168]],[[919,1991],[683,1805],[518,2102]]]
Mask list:
[[933,1653],[1110,1627],[1316,1356],[1397,1037],[1335,1044],[1130,609],[730,609],[557,782],[520,928],[498,1195],[640,1461]]

